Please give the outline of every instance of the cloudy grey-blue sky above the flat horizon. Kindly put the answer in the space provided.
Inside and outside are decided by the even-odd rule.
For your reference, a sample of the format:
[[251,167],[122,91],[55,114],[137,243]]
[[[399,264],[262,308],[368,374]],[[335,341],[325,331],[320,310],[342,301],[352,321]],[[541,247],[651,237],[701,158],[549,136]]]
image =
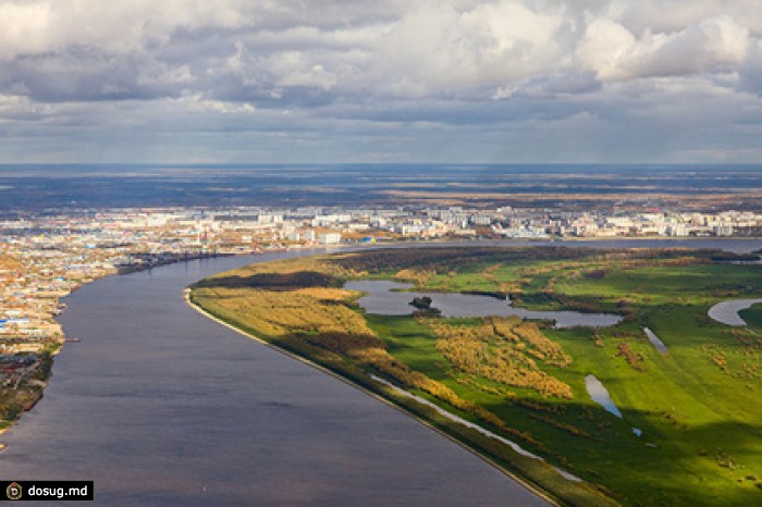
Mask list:
[[760,0],[0,0],[0,162],[760,162]]

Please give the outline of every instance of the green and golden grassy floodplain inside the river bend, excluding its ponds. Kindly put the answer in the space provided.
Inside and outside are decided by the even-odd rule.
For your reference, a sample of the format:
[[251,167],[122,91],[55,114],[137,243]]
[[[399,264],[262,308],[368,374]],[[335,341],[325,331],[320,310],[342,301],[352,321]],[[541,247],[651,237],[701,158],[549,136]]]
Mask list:
[[[721,259],[722,258],[722,259]],[[365,313],[347,280],[509,295],[537,310],[615,312],[605,329],[508,318]],[[706,317],[762,297],[762,265],[687,249],[409,248],[281,260],[221,273],[192,301],[386,397],[569,505],[762,503],[762,306],[748,327]],[[410,307],[414,310],[413,307]],[[648,341],[655,332],[668,351]],[[592,401],[595,375],[622,411]],[[509,438],[465,429],[378,375]],[[632,428],[642,430],[636,436]],[[548,463],[583,482],[562,478]]]

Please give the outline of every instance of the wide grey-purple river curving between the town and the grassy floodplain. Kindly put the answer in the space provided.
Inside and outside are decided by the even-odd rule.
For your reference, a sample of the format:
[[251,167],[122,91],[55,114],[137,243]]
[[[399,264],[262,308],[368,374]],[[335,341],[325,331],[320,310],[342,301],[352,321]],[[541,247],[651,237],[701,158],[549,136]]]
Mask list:
[[280,257],[109,276],[67,297],[61,322],[82,342],[0,436],[2,479],[93,480],[96,504],[118,506],[546,505],[401,411],[183,301],[188,283]]

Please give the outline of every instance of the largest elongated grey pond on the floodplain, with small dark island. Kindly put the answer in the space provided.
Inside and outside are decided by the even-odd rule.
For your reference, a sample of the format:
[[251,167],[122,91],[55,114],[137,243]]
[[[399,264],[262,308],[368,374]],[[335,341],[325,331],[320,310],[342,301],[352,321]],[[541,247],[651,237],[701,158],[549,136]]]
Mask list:
[[553,320],[556,327],[605,327],[618,323],[622,318],[610,313],[581,313],[579,311],[536,311],[511,306],[511,301],[492,296],[456,293],[405,292],[413,285],[386,280],[359,280],[347,282],[344,288],[365,293],[358,304],[368,313],[405,316],[415,311],[414,297],[428,296],[431,306],[444,317],[517,316],[530,320]]

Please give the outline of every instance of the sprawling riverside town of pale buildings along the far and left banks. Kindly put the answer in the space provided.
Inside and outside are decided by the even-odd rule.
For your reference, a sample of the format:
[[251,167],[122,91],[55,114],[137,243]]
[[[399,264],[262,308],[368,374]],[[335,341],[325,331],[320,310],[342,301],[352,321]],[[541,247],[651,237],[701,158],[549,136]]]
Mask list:
[[54,317],[79,285],[177,260],[292,248],[435,239],[753,237],[762,214],[544,209],[120,209],[0,221],[0,430],[42,395],[64,337]]

